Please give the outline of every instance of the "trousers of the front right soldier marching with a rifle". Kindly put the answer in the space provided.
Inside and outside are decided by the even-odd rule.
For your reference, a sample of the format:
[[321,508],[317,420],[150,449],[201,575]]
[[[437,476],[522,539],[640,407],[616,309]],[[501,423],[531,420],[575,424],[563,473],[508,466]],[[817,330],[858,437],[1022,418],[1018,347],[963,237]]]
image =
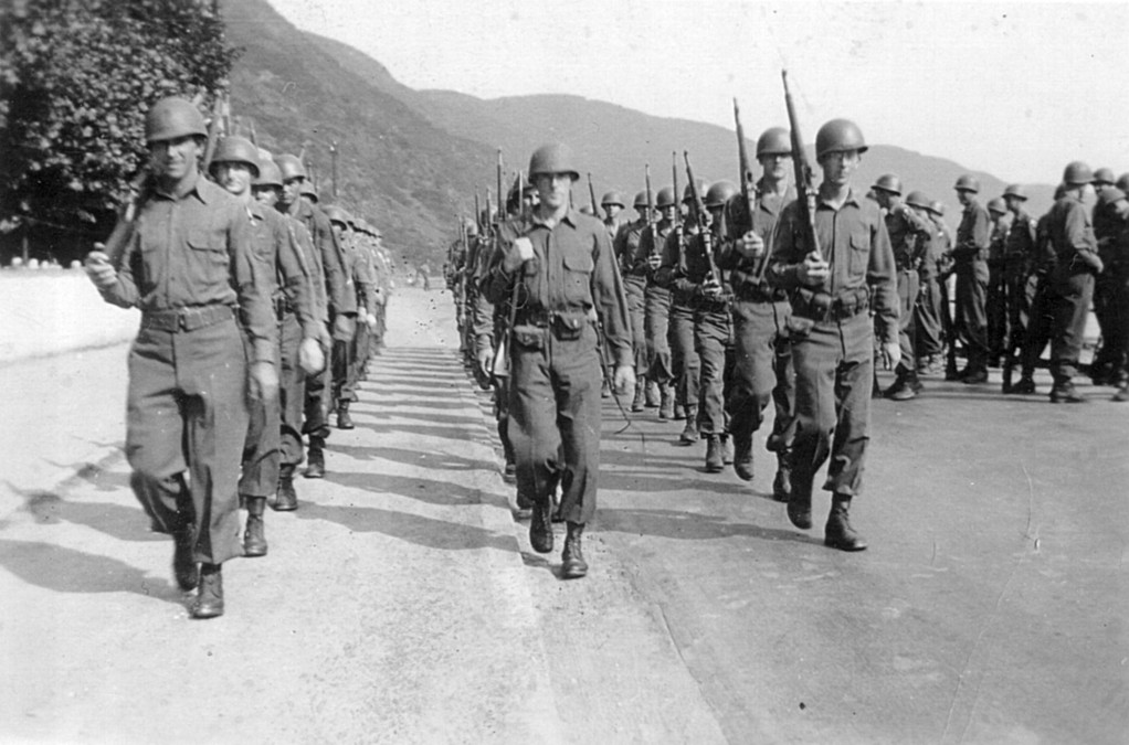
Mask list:
[[870,440],[874,330],[870,316],[815,322],[791,348],[796,365],[796,438],[791,483],[811,500],[815,474],[830,457],[826,491],[857,496]]

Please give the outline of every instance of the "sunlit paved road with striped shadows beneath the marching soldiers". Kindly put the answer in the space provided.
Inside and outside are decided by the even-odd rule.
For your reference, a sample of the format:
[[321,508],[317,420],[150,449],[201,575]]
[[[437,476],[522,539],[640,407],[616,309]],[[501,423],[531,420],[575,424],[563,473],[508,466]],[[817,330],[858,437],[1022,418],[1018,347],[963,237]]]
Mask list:
[[861,554],[787,523],[762,442],[752,484],[707,475],[674,424],[624,428],[609,402],[593,570],[561,581],[511,519],[449,296],[405,289],[393,318],[358,429],[268,517],[270,555],[226,568],[211,622],[187,620],[114,454],[123,348],[64,387],[45,380],[75,363],[0,368],[33,402],[0,483],[0,736],[1129,738],[1129,407],[1108,391],[877,402]]

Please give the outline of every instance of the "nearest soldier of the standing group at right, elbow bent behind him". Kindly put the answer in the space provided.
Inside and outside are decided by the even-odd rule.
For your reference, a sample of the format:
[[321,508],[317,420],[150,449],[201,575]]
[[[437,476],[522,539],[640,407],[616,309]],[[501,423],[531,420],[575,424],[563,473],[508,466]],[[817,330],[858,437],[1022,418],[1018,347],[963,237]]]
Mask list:
[[1053,263],[1048,274],[1045,312],[1050,321],[1051,403],[1083,403],[1086,400],[1073,383],[1086,328],[1086,315],[1094,293],[1094,275],[1102,271],[1097,242],[1083,199],[1093,174],[1080,160],[1067,165],[1062,198],[1054,202],[1047,220]]

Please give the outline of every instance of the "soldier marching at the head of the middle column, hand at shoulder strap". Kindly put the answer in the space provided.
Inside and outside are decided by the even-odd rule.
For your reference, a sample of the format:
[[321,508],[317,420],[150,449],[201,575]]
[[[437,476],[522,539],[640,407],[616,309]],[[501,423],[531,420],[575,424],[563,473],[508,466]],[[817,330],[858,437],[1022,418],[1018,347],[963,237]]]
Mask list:
[[584,577],[581,536],[596,509],[599,462],[601,358],[597,339],[615,359],[620,392],[634,385],[627,297],[607,231],[569,207],[579,172],[571,151],[546,144],[530,159],[541,198],[528,231],[499,244],[483,282],[499,304],[514,293],[518,313],[510,350],[509,433],[518,491],[534,501],[530,543],[553,549],[550,518],[558,481],[568,524],[564,578]]

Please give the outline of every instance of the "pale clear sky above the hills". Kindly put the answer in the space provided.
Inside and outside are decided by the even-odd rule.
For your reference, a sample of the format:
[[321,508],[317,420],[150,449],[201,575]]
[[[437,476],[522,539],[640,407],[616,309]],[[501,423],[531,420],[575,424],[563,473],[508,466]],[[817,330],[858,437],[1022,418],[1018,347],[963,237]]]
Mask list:
[[572,94],[750,137],[834,117],[1005,182],[1129,172],[1127,2],[270,0],[417,89]]

